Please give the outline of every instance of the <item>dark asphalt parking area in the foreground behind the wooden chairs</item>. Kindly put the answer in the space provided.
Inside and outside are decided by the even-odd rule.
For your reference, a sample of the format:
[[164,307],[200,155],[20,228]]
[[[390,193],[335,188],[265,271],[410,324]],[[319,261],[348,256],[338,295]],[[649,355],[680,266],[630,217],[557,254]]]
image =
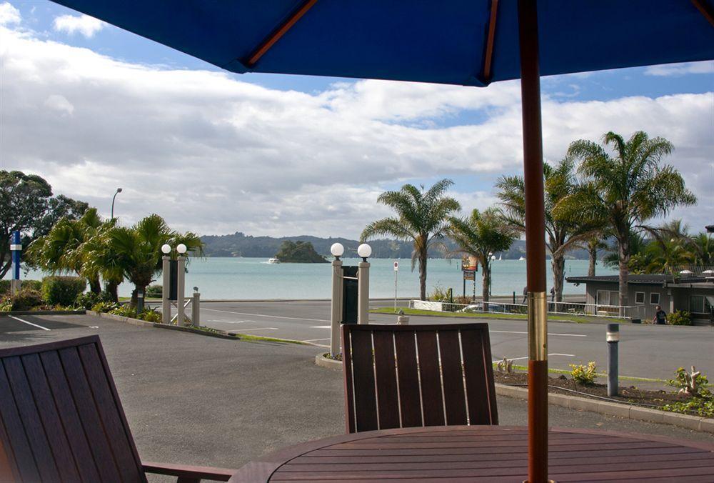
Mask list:
[[[136,327],[99,317],[0,317],[0,347],[99,334],[139,454],[145,461],[240,467],[290,444],[344,432],[341,372],[317,367],[320,348],[243,342]],[[12,322],[11,322],[12,321]],[[501,424],[527,422],[526,402],[498,398]],[[711,434],[562,407],[559,427]]]

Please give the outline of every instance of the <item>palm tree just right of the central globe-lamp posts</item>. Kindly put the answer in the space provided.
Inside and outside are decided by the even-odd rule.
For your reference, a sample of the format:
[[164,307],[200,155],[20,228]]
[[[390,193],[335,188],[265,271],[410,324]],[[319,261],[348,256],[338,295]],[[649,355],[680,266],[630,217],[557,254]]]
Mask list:
[[396,211],[396,217],[383,218],[368,224],[362,231],[361,241],[376,235],[391,235],[401,240],[413,240],[411,269],[419,262],[419,290],[426,300],[426,262],[429,247],[443,239],[448,227],[448,216],[461,209],[456,199],[444,196],[453,184],[451,179],[436,182],[427,191],[405,184],[399,191],[385,191],[377,202]]

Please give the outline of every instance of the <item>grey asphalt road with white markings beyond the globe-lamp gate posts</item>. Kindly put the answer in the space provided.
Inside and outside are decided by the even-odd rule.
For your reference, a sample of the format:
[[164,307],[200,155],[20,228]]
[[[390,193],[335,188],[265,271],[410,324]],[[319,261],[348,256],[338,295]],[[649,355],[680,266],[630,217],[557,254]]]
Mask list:
[[[371,301],[370,307],[392,307],[391,301]],[[406,302],[401,301],[404,305]],[[370,314],[371,322],[393,324],[396,316]],[[475,319],[468,319],[475,320]],[[413,324],[453,324],[465,319],[411,317]],[[513,359],[526,364],[528,334],[524,320],[483,319],[491,334],[493,359]],[[330,343],[330,302],[203,302],[201,324],[243,334],[279,337],[309,342],[321,347]],[[605,370],[608,345],[605,325],[548,322],[548,362],[556,369],[569,364],[595,361]],[[620,327],[620,375],[670,379],[678,367],[695,366],[714,374],[714,329],[650,324]],[[642,386],[643,382],[632,384]],[[660,384],[655,384],[660,386]]]

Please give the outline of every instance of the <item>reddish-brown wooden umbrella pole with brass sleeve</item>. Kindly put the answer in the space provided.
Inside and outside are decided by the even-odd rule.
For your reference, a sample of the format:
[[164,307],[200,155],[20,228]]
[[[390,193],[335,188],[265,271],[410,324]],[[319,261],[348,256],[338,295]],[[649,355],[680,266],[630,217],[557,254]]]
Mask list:
[[543,134],[540,126],[538,16],[535,0],[518,1],[526,187],[528,281],[528,483],[548,481],[548,335],[545,296]]

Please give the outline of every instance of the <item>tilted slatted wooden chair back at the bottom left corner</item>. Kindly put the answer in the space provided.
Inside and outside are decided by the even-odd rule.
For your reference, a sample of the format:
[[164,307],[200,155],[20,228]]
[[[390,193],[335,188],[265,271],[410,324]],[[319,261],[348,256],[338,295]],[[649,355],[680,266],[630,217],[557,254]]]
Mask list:
[[146,482],[98,336],[0,350],[0,481]]

